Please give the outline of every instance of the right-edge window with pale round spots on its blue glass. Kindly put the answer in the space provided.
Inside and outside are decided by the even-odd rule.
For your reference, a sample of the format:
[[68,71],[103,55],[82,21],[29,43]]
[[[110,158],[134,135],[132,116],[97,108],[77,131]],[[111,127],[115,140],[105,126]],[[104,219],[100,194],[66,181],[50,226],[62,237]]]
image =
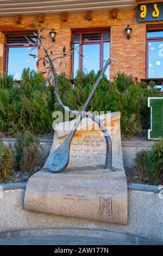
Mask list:
[[147,32],[147,78],[163,78],[163,31]]

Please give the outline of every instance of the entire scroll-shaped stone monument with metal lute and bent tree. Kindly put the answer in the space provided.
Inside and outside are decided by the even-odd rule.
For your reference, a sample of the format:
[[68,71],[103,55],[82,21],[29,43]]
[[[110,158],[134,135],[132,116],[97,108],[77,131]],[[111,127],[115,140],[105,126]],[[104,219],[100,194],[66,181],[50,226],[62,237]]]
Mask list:
[[[82,112],[72,111],[60,100],[54,64],[42,44],[42,38],[40,36],[37,41],[48,59],[46,62],[50,67],[49,74],[52,72],[55,97],[65,111],[76,112],[78,118],[68,125],[72,129],[62,130],[63,123],[55,127],[53,145],[45,166],[28,181],[24,208],[127,224],[127,180],[122,160],[120,112],[99,117],[86,112],[111,61],[106,62]],[[63,50],[61,58],[65,57],[65,48]],[[85,129],[80,125],[81,121]],[[96,125],[92,126],[92,121]]]

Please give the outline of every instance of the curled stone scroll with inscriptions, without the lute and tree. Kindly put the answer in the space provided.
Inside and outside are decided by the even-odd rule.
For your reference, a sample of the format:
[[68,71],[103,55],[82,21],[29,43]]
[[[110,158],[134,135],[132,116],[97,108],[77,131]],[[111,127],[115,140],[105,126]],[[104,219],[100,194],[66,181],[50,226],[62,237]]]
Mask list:
[[[113,170],[104,169],[106,144],[102,132],[97,125],[92,129],[85,119],[87,130],[78,128],[64,172],[52,173],[43,168],[29,179],[24,199],[26,210],[127,223],[127,180],[122,160],[120,112],[103,115],[101,119],[111,136]],[[59,126],[51,150],[57,148],[68,133]]]

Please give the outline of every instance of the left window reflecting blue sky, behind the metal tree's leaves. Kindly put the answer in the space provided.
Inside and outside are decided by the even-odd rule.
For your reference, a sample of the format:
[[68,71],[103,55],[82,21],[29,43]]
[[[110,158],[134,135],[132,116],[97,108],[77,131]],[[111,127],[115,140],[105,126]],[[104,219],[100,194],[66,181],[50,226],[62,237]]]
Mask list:
[[[26,34],[28,38],[34,37]],[[36,70],[36,59],[28,56],[29,53],[37,55],[37,48],[26,45],[27,39],[24,35],[8,35],[5,40],[5,65],[4,71],[14,76],[14,80],[21,80],[24,68]],[[33,51],[32,51],[33,49]],[[32,51],[32,52],[31,52]]]

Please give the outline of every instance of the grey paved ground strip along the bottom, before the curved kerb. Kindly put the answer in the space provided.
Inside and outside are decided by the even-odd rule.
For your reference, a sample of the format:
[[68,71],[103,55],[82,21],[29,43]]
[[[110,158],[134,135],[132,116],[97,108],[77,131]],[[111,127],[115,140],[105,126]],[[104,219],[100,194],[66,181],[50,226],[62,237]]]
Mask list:
[[30,236],[17,239],[0,239],[1,245],[134,245],[114,240],[84,236]]

